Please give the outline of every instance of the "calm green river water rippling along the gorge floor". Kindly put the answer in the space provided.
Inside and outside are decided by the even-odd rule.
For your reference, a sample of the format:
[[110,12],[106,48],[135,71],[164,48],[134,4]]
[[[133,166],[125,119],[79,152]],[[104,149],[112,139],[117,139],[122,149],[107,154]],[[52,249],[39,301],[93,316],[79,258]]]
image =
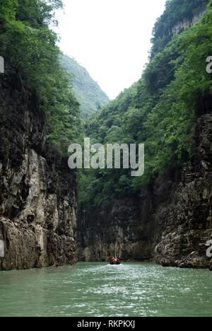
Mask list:
[[212,316],[212,272],[79,263],[0,272],[0,316]]

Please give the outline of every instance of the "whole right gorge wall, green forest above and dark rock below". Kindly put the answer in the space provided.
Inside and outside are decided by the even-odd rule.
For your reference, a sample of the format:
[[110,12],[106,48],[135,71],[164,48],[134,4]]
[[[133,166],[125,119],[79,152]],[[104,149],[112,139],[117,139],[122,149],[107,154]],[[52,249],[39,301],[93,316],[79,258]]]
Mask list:
[[[102,170],[85,174],[95,185],[91,187],[88,182],[86,190],[91,197],[86,199],[82,194],[80,199],[82,207],[77,225],[80,260],[105,261],[116,252],[123,260],[153,260],[163,266],[211,268],[211,260],[206,256],[206,242],[212,236],[211,93],[206,87],[200,91],[201,83],[197,81],[193,91],[194,86],[186,87],[194,70],[199,79],[205,79],[201,73],[206,77],[207,54],[196,61],[200,64],[197,69],[194,64],[195,57],[199,57],[197,48],[190,59],[190,51],[187,51],[187,45],[191,45],[191,50],[192,46],[197,47],[192,42],[195,30],[199,35],[198,25],[206,15],[206,7],[196,1],[188,8],[186,2],[170,1],[155,24],[153,59],[143,79],[86,123],[86,134],[105,144],[146,141],[146,169],[144,182],[141,180],[138,184],[124,170],[121,174]],[[167,30],[176,26],[180,10],[184,11],[182,21],[187,24],[173,33],[176,36],[172,35],[173,39],[166,47],[166,36],[170,38]],[[170,12],[175,12],[172,21],[169,21]],[[189,65],[179,69],[174,65],[177,61],[179,67],[183,62]],[[187,71],[185,81],[182,78],[184,70]],[[206,79],[210,81],[211,77]],[[176,90],[184,89],[184,105],[180,100],[182,95],[170,97],[175,94],[172,86]],[[192,95],[194,103],[189,100]],[[187,115],[182,112],[179,122],[177,103],[187,109]],[[154,108],[157,114],[154,114]],[[180,137],[184,132],[177,129],[184,125],[183,122],[190,122],[189,127],[186,128],[186,124],[183,129],[187,130],[185,139]],[[154,124],[159,134],[157,129],[154,132]],[[161,137],[169,139],[166,141]],[[160,141],[156,148],[155,140]],[[180,155],[173,158],[179,146]],[[167,164],[164,158],[167,158]],[[85,183],[82,178],[82,190]]]

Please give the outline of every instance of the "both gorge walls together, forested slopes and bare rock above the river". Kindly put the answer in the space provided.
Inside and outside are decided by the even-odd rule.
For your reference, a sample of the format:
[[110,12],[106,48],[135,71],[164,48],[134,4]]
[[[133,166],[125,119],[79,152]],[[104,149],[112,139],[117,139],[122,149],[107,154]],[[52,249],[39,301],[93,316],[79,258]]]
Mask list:
[[[141,80],[110,103],[88,83],[98,98],[81,99],[83,115],[83,91],[70,91],[49,28],[57,1],[35,13],[24,0],[9,2],[0,14],[0,270],[107,261],[114,252],[212,269],[211,1],[169,1]],[[144,143],[145,175],[70,170],[76,137]]]

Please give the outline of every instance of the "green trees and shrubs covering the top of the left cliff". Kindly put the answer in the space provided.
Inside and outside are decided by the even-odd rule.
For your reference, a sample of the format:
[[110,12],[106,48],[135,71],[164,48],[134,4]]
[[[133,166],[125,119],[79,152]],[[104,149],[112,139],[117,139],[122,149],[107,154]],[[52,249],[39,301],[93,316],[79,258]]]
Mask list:
[[66,153],[78,135],[79,104],[60,64],[57,35],[49,28],[57,24],[54,11],[62,7],[61,0],[0,0],[0,5],[4,79],[19,77],[35,96],[38,110],[47,114],[49,141]]

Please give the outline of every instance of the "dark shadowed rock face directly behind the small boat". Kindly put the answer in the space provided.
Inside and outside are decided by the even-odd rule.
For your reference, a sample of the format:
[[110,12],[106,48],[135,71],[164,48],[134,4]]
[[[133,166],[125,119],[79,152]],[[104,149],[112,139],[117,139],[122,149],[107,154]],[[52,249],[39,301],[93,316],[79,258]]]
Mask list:
[[148,258],[150,247],[139,219],[140,207],[134,199],[119,200],[112,209],[82,216],[78,222],[79,260],[107,261],[115,253],[124,260]]

